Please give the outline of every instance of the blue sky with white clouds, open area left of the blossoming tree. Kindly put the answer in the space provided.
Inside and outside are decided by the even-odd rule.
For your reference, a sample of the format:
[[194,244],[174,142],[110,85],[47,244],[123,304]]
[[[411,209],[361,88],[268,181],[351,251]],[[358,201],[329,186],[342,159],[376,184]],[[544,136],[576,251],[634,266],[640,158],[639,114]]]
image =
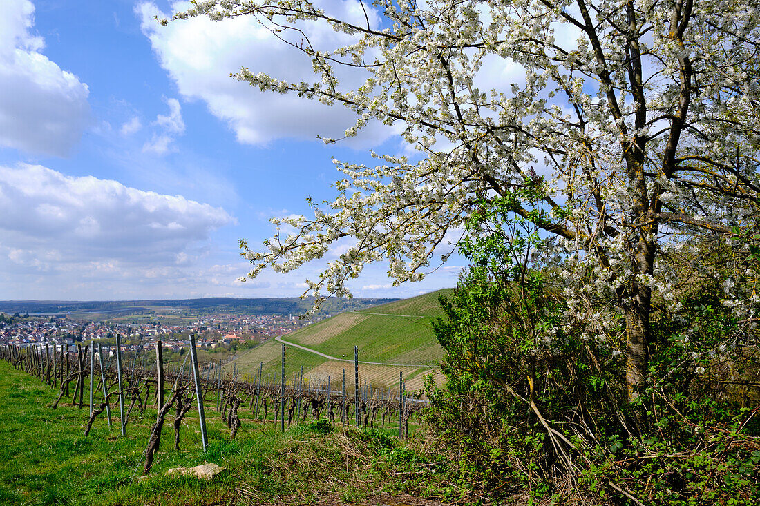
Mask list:
[[[308,60],[251,20],[152,20],[176,7],[0,3],[0,299],[300,295],[321,264],[239,283],[249,268],[238,239],[260,244],[269,217],[308,215],[307,195],[330,199],[333,157],[404,150],[379,125],[318,141],[341,137],[350,112],[228,76],[246,65],[299,79]],[[460,265],[394,288],[378,264],[350,287],[412,296],[454,286]]]

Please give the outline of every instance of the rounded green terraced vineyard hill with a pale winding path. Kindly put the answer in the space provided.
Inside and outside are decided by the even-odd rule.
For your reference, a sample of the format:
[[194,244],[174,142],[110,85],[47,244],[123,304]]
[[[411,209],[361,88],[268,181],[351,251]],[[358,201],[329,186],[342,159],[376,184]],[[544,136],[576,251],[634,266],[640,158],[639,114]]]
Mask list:
[[[359,365],[360,381],[391,387],[398,384],[402,372],[407,389],[421,388],[427,373],[439,376],[437,364],[443,350],[433,336],[431,324],[443,314],[438,297],[448,293],[451,289],[442,289],[341,313],[283,336],[281,340],[287,343],[287,377],[293,378],[303,367],[304,377],[312,380],[330,376],[334,381],[342,377],[344,368],[347,377],[353,378],[353,346],[359,346],[359,361],[373,362]],[[235,361],[239,371],[255,377],[263,363],[264,380],[279,381],[281,346],[273,339],[242,354]]]

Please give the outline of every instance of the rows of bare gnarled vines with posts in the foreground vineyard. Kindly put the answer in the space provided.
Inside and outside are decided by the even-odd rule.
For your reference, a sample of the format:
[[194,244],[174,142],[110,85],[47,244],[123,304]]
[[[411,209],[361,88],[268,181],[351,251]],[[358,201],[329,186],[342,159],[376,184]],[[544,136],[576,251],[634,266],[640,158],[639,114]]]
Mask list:
[[[131,364],[122,364],[119,345],[105,346],[2,346],[0,358],[19,371],[39,378],[57,389],[50,400],[50,409],[61,403],[89,407],[84,437],[93,426],[106,423],[126,434],[129,421],[138,410],[155,410],[156,422],[150,430],[142,459],[142,473],[150,473],[154,457],[161,445],[163,426],[173,428],[174,448],[179,450],[183,420],[195,418],[204,450],[208,445],[205,428],[207,410],[213,410],[226,422],[230,439],[243,423],[279,426],[281,431],[292,425],[312,422],[324,416],[331,424],[343,423],[361,428],[397,429],[399,438],[406,437],[410,418],[418,415],[425,400],[410,397],[403,373],[395,389],[379,388],[364,378],[354,350],[353,367],[337,377],[312,379],[303,374],[303,367],[288,378],[285,370],[285,346],[280,349],[279,378],[264,375],[263,364],[254,375],[241,375],[236,365],[223,367],[219,362],[198,364],[195,339],[185,353],[181,365],[164,367],[162,344],[157,342],[156,355],[134,356]],[[289,355],[289,359],[292,357]],[[231,369],[231,370],[230,370]],[[83,416],[84,417],[84,416]],[[416,425],[413,422],[412,425]]]

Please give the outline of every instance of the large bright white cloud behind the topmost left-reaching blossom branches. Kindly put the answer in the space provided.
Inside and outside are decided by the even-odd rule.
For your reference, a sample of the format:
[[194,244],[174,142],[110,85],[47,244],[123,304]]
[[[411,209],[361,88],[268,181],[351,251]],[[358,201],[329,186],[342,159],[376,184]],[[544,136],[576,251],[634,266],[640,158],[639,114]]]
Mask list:
[[[342,17],[365,22],[363,8],[356,0],[323,0],[316,4],[340,11]],[[187,7],[186,2],[171,6],[173,11]],[[279,138],[314,139],[317,134],[341,138],[356,121],[356,115],[343,107],[328,107],[295,95],[261,92],[229,77],[230,72],[245,66],[288,81],[313,79],[310,60],[277,40],[253,17],[220,22],[198,17],[160,27],[154,17],[171,17],[171,13],[148,2],[138,5],[136,11],[160,65],[169,72],[182,96],[203,100],[212,114],[230,125],[238,141],[266,144]],[[372,11],[369,15],[375,19]],[[309,27],[308,33],[309,40],[318,46],[342,46],[350,41],[349,36],[334,33],[326,25]],[[356,74],[352,74],[356,81]],[[351,143],[377,145],[392,134],[390,127],[372,123]]]

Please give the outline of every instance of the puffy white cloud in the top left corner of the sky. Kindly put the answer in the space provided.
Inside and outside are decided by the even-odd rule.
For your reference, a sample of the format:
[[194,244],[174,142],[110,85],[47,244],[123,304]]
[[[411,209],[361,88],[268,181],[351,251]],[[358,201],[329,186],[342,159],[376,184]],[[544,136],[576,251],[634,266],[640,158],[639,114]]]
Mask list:
[[0,7],[0,145],[65,156],[90,121],[89,90],[51,62],[32,33],[34,5],[5,0]]

